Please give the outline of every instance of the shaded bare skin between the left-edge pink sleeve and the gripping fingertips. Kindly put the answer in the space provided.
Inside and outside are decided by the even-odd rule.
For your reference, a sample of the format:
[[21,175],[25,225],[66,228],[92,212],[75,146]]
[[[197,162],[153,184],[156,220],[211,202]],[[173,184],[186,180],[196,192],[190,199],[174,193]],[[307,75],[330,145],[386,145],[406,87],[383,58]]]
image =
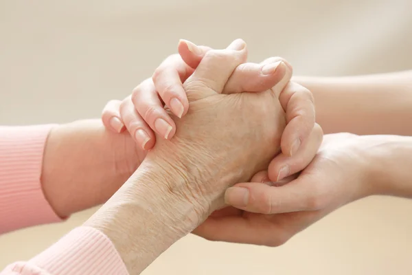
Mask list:
[[47,138],[41,184],[60,217],[104,203],[143,157],[128,134],[106,131],[100,120],[54,127]]

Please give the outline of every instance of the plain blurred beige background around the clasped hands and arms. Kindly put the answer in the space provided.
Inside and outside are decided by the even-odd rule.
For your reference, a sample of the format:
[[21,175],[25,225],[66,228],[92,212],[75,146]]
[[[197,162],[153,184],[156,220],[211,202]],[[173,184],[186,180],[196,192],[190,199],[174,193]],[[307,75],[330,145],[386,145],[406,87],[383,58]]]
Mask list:
[[[251,61],[284,56],[297,74],[410,69],[412,1],[0,0],[0,123],[98,117],[178,39],[225,47],[239,37]],[[29,259],[92,212],[0,236],[0,268]],[[365,199],[281,248],[187,236],[144,274],[412,274],[411,213],[411,201]]]

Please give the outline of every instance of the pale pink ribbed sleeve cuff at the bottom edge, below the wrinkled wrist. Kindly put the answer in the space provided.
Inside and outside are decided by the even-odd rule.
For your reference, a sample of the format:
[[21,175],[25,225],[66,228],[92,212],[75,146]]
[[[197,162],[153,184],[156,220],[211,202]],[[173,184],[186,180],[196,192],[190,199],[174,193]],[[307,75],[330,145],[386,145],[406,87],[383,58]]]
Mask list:
[[9,265],[0,275],[127,275],[115,246],[102,232],[89,227],[72,230],[27,262]]

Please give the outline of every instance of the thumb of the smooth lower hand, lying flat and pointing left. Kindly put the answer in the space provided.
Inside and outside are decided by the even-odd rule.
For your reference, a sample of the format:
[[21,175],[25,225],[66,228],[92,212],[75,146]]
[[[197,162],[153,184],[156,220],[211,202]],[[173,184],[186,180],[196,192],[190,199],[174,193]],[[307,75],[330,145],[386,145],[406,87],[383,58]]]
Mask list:
[[[319,179],[317,179],[319,180]],[[317,190],[312,190],[310,175],[302,175],[283,186],[242,183],[228,188],[225,202],[248,212],[276,214],[321,208]]]

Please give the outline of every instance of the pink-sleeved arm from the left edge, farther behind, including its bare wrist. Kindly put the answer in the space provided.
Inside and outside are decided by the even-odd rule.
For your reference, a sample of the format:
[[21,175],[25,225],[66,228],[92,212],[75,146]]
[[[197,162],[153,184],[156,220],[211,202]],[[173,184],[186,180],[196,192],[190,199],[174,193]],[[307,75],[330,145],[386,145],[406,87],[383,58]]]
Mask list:
[[0,153],[0,232],[106,201],[143,157],[128,135],[104,131],[100,120],[3,126]]

